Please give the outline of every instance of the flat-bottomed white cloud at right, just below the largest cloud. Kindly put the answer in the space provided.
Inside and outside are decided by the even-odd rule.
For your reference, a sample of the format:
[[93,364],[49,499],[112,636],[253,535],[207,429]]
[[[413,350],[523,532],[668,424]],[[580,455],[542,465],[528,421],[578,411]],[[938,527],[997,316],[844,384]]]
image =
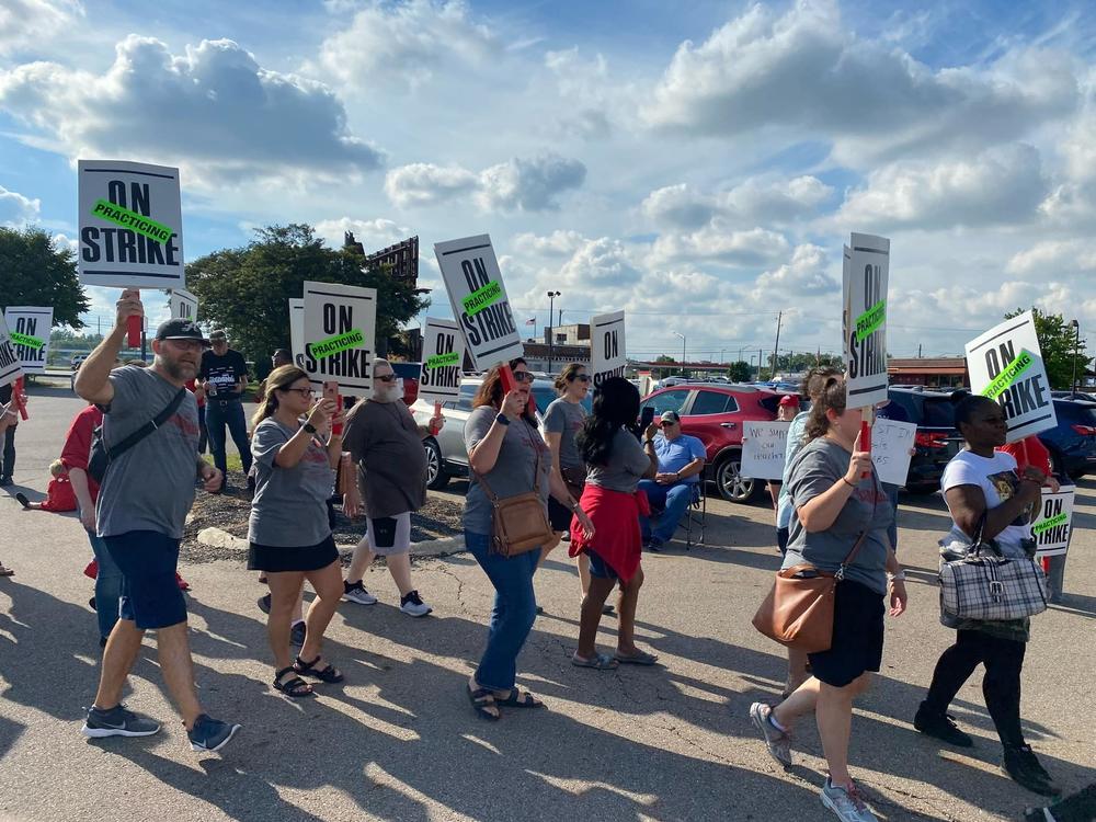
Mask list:
[[1013,145],[972,160],[883,165],[831,221],[875,230],[1030,222],[1046,196],[1039,152]]

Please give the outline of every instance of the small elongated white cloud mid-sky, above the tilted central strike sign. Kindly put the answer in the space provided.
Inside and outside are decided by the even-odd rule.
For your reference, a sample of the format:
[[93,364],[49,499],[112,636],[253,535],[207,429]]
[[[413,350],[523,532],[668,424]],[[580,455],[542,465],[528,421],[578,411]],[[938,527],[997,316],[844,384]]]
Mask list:
[[475,193],[487,212],[546,212],[559,207],[559,194],[578,189],[586,167],[559,155],[514,158],[473,173],[459,165],[412,163],[392,169],[385,193],[399,207],[437,205]]

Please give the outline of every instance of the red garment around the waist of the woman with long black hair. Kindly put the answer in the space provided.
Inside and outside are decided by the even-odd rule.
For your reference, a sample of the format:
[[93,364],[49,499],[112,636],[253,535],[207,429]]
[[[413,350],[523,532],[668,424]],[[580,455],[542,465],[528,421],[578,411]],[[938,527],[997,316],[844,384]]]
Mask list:
[[624,493],[609,491],[586,483],[580,501],[594,524],[594,538],[586,541],[578,517],[571,518],[571,545],[568,553],[578,557],[587,548],[597,552],[605,563],[616,571],[621,582],[628,582],[639,569],[643,552],[643,535],[639,529],[639,515],[650,516],[651,507],[642,491]]

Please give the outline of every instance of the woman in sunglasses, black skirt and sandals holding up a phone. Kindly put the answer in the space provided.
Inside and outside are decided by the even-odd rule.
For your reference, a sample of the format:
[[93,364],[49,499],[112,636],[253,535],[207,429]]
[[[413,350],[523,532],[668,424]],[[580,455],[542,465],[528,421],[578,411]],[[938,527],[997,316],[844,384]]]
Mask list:
[[[305,422],[301,423],[301,418]],[[333,400],[312,401],[308,374],[283,365],[266,378],[266,397],[252,418],[255,495],[251,502],[248,569],[265,571],[271,587],[266,635],[274,652],[274,688],[304,697],[300,677],[342,682],[322,657],[323,631],[342,598],[342,564],[331,535],[327,500],[342,455],[341,421]],[[327,442],[323,442],[327,437]],[[289,662],[289,620],[305,580],[316,591],[305,616],[300,655]]]

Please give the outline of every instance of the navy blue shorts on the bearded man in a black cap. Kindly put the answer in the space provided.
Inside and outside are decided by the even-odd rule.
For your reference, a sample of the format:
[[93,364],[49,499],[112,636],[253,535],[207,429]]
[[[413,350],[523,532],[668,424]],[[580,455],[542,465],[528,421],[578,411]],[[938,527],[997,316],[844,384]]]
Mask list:
[[122,571],[119,617],[141,630],[186,621],[186,601],[175,582],[179,540],[157,530],[130,530],[103,537]]

